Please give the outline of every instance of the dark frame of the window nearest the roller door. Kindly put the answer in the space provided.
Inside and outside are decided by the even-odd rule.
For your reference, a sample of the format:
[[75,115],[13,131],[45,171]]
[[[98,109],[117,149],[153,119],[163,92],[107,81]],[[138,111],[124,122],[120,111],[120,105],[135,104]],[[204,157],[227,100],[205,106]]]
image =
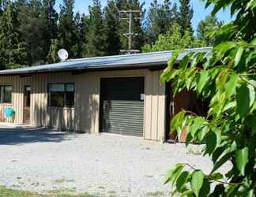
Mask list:
[[[50,87],[52,84],[63,84],[64,85],[64,91],[60,91],[63,93],[63,106],[51,106],[51,94],[50,94]],[[73,91],[66,91],[66,85],[73,85]],[[73,106],[67,106],[66,105],[66,92],[73,92]],[[69,108],[73,109],[75,105],[75,94],[76,94],[76,84],[75,83],[48,83],[47,84],[47,106],[48,107],[61,107],[61,108]]]

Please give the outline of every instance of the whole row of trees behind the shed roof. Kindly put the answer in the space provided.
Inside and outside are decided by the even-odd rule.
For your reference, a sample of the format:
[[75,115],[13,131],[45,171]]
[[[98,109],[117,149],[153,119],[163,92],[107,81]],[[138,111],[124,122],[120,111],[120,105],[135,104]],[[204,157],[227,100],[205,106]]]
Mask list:
[[[171,0],[152,1],[148,11],[140,0],[108,0],[105,7],[100,5],[100,0],[94,0],[86,15],[74,13],[74,2],[0,0],[1,69],[56,62],[56,50],[61,48],[68,50],[69,58],[120,54],[120,50],[128,49],[128,39],[123,34],[128,32],[129,24],[121,20],[119,10],[141,11],[141,15],[133,15],[132,21],[135,50],[141,50],[145,44],[148,45],[143,47],[144,51],[151,51],[204,46],[208,42],[205,37],[201,39],[206,41],[201,42],[193,36],[190,0],[180,1],[179,5]],[[55,9],[57,3],[59,13]],[[177,35],[173,33],[176,24],[180,29]],[[206,26],[200,28],[204,35],[209,32]],[[157,46],[166,41],[169,43],[165,47]]]

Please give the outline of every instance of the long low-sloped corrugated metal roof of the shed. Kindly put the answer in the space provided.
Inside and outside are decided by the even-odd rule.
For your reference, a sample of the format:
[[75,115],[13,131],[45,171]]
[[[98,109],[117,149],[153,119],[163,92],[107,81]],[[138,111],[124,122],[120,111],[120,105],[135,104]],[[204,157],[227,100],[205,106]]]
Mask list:
[[[188,49],[179,55],[178,61],[181,60],[190,51],[208,51],[211,47]],[[0,75],[21,75],[36,72],[64,72],[64,71],[80,71],[80,70],[97,70],[97,69],[126,69],[154,67],[156,65],[167,65],[171,57],[171,50],[144,53],[144,54],[128,54],[115,55],[99,58],[81,58],[70,59],[51,65],[36,65],[19,69],[6,69],[0,71]]]

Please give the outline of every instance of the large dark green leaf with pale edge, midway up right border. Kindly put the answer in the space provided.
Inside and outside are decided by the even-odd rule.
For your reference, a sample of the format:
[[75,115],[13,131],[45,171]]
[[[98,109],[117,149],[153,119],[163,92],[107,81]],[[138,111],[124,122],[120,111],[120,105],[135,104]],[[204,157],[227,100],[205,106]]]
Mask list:
[[244,117],[250,110],[255,99],[254,87],[251,85],[242,85],[236,90],[237,112],[240,117]]

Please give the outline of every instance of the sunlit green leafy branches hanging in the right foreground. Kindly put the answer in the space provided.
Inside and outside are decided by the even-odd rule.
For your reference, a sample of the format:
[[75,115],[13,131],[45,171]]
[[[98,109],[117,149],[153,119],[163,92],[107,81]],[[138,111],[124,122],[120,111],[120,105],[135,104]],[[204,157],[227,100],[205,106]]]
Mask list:
[[[205,117],[183,110],[171,120],[171,131],[180,136],[186,128],[186,146],[204,143],[203,154],[213,162],[205,174],[188,164],[169,171],[166,183],[181,196],[256,195],[256,1],[208,0],[213,14],[230,7],[235,20],[214,33],[218,39],[209,52],[175,50],[161,80],[171,81],[173,95],[194,91],[209,102]],[[221,166],[231,168],[218,173]]]

